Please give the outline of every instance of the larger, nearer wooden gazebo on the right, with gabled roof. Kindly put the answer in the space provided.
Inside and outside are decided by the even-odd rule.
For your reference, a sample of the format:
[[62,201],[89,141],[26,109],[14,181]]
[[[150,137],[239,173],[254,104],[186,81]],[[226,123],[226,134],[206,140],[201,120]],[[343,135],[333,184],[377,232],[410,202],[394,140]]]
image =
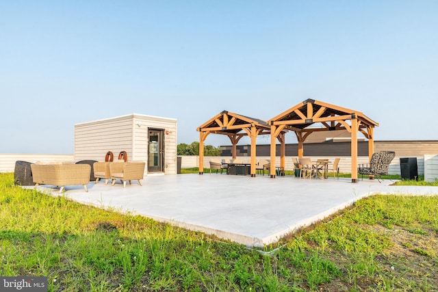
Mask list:
[[[374,127],[378,126],[360,111],[307,99],[268,120],[270,125],[270,176],[275,177],[276,140],[281,143],[280,166],[285,165],[284,130],[294,131],[298,139],[298,157],[303,156],[303,142],[315,131],[346,130],[351,135],[351,181],[357,183],[357,133],[368,138],[368,156],[374,152]],[[251,153],[252,154],[252,153]]]

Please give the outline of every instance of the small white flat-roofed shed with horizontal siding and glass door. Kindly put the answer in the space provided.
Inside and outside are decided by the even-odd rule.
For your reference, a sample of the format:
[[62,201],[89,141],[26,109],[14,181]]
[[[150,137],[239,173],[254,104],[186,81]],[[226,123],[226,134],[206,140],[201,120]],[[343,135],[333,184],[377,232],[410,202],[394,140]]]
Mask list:
[[75,161],[105,161],[109,151],[146,162],[145,175],[177,174],[177,120],[129,114],[75,124]]

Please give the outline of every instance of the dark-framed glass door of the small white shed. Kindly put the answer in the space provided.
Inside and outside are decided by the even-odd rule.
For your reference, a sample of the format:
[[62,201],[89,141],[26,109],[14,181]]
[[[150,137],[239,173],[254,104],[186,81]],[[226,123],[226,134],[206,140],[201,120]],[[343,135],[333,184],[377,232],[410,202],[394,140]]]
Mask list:
[[148,172],[163,172],[164,143],[162,129],[149,129]]

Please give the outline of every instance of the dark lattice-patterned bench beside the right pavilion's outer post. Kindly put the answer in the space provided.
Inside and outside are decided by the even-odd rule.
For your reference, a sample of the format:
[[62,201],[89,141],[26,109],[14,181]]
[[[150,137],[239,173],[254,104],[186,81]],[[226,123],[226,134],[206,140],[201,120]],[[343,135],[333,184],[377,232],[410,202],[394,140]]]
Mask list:
[[359,164],[357,173],[362,174],[362,180],[363,174],[376,176],[380,183],[381,176],[388,174],[389,163],[391,163],[394,157],[396,157],[396,152],[394,151],[375,152],[371,157],[370,163]]

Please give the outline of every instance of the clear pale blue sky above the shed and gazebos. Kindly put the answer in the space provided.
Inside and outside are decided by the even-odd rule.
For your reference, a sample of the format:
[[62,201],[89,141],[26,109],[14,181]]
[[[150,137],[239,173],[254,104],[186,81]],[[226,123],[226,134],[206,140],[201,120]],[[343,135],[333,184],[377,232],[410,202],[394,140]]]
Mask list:
[[133,113],[176,118],[190,144],[222,110],[269,120],[307,98],[363,112],[376,140],[437,140],[437,15],[422,0],[0,0],[0,152],[73,154],[75,124]]

